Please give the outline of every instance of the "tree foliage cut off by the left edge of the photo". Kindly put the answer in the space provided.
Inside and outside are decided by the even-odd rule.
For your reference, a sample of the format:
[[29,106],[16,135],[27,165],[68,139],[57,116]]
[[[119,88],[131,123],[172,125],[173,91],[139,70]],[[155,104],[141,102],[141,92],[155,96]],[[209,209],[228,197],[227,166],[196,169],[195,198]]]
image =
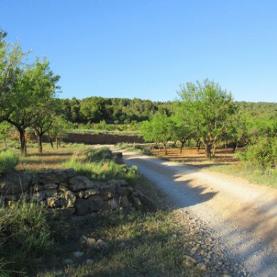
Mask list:
[[8,44],[6,33],[0,30],[0,123],[12,113],[12,101],[15,94],[12,87],[19,75],[19,66],[23,53],[19,44]]

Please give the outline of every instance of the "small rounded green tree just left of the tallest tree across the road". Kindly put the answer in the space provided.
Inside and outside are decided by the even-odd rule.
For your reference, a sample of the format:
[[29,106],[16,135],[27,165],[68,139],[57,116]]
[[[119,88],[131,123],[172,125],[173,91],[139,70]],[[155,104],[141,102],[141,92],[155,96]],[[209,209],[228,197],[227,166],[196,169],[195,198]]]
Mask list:
[[152,120],[141,126],[141,134],[145,141],[162,143],[165,154],[168,154],[168,141],[172,138],[174,123],[166,114],[156,114]]

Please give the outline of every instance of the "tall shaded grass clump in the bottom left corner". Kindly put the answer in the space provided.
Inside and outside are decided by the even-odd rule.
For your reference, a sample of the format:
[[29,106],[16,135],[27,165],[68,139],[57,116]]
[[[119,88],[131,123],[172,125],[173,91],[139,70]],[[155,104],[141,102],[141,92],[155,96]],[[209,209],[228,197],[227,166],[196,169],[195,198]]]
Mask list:
[[0,208],[0,276],[24,276],[53,249],[45,208],[24,201]]

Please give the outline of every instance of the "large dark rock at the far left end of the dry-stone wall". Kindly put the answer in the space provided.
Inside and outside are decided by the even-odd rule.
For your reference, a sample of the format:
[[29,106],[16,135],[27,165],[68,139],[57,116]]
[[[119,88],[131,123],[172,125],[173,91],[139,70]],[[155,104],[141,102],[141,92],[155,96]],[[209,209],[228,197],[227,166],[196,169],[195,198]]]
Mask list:
[[0,178],[0,193],[14,195],[30,188],[33,176],[26,172],[17,172]]

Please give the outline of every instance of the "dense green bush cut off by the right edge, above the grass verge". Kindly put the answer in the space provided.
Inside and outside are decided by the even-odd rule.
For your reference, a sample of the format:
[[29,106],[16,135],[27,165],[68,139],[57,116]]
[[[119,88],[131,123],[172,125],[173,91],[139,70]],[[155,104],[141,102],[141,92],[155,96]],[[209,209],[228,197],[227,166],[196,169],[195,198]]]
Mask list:
[[255,168],[270,170],[277,167],[277,138],[260,137],[237,157]]

